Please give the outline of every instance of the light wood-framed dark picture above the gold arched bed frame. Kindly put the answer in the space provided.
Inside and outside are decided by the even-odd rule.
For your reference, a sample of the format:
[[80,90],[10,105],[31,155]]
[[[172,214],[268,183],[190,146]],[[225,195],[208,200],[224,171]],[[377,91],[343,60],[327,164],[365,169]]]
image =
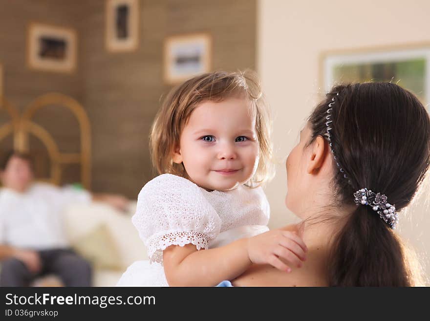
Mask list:
[[73,72],[76,69],[76,46],[74,29],[31,23],[27,40],[28,66],[43,71]]

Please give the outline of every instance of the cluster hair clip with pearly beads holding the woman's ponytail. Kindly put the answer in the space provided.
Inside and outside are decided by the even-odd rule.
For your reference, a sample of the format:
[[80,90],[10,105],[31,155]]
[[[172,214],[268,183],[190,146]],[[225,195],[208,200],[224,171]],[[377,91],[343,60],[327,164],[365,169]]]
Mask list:
[[371,206],[372,210],[378,213],[391,229],[396,228],[399,216],[396,213],[396,206],[387,202],[387,196],[381,195],[381,193],[375,194],[364,188],[355,192],[354,197],[357,205]]

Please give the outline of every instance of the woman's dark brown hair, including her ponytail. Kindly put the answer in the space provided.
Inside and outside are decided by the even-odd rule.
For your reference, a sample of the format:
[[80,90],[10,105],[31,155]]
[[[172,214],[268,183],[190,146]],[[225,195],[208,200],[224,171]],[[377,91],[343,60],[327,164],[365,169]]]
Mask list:
[[[339,95],[337,95],[339,93]],[[409,91],[391,83],[335,86],[309,118],[312,141],[325,136],[328,104],[337,204],[354,204],[367,188],[401,209],[417,192],[430,164],[430,120]],[[327,142],[328,143],[328,142]],[[370,206],[357,206],[334,235],[327,264],[331,286],[413,286],[416,279],[400,238]]]

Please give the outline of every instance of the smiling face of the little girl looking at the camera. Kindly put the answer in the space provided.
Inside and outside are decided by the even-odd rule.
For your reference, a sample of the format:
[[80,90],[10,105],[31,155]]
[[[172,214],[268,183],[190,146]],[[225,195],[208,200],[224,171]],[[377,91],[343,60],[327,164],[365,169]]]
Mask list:
[[249,181],[258,167],[258,138],[247,101],[228,98],[196,107],[173,161],[207,190],[227,191]]

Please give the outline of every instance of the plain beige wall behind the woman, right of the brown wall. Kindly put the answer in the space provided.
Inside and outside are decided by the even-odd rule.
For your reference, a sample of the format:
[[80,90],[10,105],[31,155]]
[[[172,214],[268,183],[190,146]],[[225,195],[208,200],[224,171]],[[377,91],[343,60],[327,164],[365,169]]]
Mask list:
[[[274,136],[280,159],[276,178],[266,188],[272,207],[271,227],[296,218],[284,207],[284,162],[298,131],[320,98],[319,59],[323,51],[402,43],[430,43],[430,2],[363,0],[259,0],[258,72],[276,115]],[[399,232],[428,257],[429,189],[416,199]],[[425,260],[430,276],[429,260]]]

